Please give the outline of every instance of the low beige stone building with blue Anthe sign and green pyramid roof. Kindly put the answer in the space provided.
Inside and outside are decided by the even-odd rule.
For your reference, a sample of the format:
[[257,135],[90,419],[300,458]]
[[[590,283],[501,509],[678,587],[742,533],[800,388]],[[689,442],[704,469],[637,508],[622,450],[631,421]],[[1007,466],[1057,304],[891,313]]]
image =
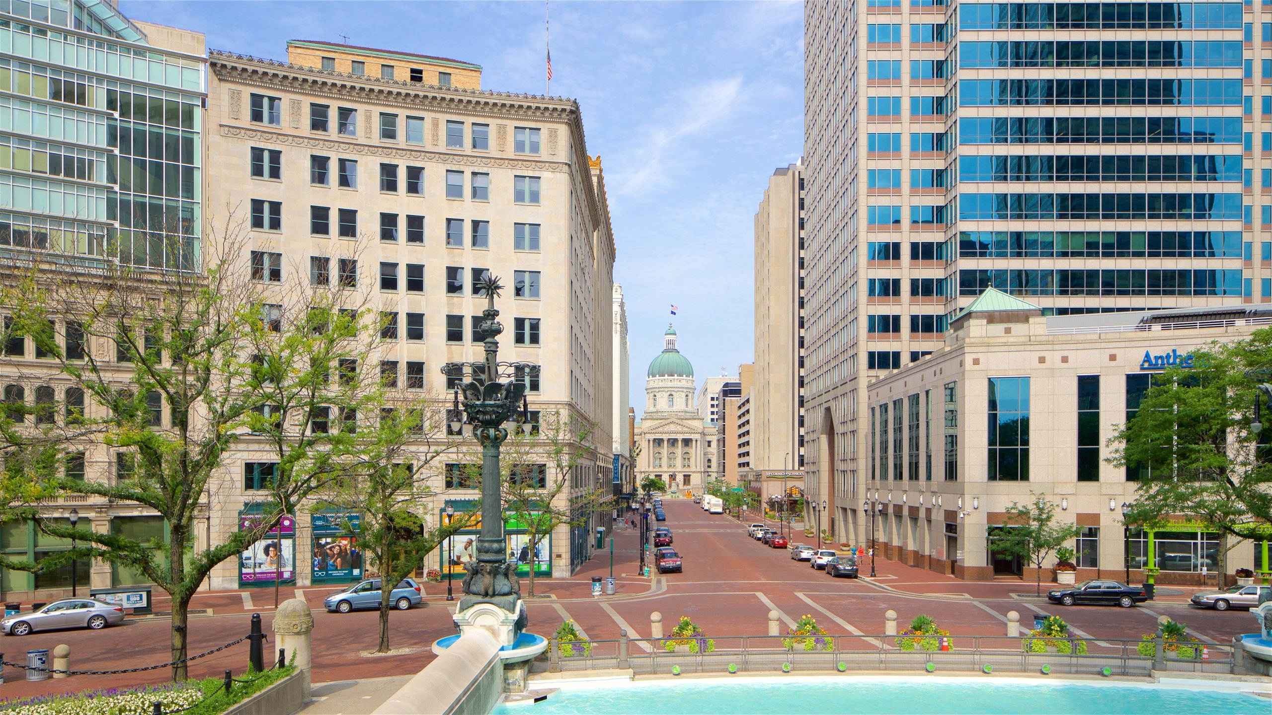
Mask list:
[[[1135,469],[1105,462],[1107,443],[1164,364],[1269,319],[1272,310],[1240,304],[1048,318],[987,293],[955,317],[932,355],[869,384],[866,469],[850,485],[862,501],[848,510],[841,538],[864,545],[873,528],[881,556],[913,566],[965,579],[1032,578],[1028,564],[991,553],[988,542],[1013,503],[1043,492],[1058,505],[1057,520],[1081,529],[1070,543],[1079,580],[1140,583],[1150,534],[1122,519],[1135,500]],[[1151,538],[1159,584],[1201,585],[1227,546],[1196,523],[1154,529]],[[1263,567],[1247,541],[1226,560],[1229,574]]]

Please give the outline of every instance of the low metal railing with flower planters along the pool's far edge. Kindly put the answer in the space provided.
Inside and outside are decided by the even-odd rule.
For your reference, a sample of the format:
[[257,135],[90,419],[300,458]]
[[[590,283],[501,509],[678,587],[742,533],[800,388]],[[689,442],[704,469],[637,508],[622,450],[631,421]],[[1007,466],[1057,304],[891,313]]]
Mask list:
[[[917,642],[916,642],[917,640]],[[1032,641],[1039,642],[1032,642]],[[1032,649],[1030,649],[1032,646]],[[1239,646],[1236,646],[1239,649]],[[931,650],[930,650],[931,649]],[[1040,649],[1040,651],[1039,651]],[[795,670],[915,670],[931,663],[939,672],[1037,673],[1149,677],[1152,670],[1213,674],[1244,673],[1233,645],[1187,644],[1172,650],[1159,640],[1033,639],[949,636],[946,639],[880,635],[722,636],[698,639],[628,639],[560,642],[532,663],[532,673],[632,670],[637,676],[681,673]],[[841,667],[842,665],[842,667]]]

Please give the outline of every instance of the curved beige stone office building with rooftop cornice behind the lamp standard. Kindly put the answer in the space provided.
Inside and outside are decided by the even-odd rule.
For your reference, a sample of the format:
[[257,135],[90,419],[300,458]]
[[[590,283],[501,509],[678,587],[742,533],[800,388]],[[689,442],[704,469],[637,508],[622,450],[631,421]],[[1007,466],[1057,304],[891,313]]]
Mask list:
[[[481,355],[486,299],[476,284],[502,279],[500,360],[541,366],[524,375],[529,406],[591,425],[583,464],[562,496],[608,492],[613,475],[613,263],[604,178],[588,155],[574,101],[481,89],[481,67],[408,52],[289,42],[287,62],[211,53],[206,177],[209,221],[247,221],[242,267],[262,290],[333,285],[393,326],[369,354],[382,374],[418,394],[449,397],[449,361]],[[285,298],[285,296],[284,296]],[[284,303],[284,300],[280,300]],[[384,337],[384,333],[382,333]],[[434,464],[435,504],[471,505],[474,490],[445,475],[469,452]],[[251,445],[226,475],[211,532],[238,528],[259,469]],[[548,475],[553,478],[553,475]],[[588,523],[552,534],[536,569],[569,575],[595,542]],[[305,583],[319,536],[298,514],[296,579]],[[515,533],[509,536],[516,550]],[[429,566],[441,564],[440,555]],[[237,564],[212,588],[243,581]]]

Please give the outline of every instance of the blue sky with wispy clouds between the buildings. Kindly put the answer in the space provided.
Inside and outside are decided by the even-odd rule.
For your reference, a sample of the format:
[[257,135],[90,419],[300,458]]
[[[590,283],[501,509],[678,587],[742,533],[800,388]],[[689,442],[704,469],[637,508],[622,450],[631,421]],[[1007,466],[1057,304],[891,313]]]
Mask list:
[[[207,45],[282,60],[287,39],[439,55],[482,87],[542,94],[543,3],[122,0],[128,17]],[[553,1],[552,94],[583,108],[599,154],[627,296],[632,405],[661,350],[669,305],[700,379],[736,374],[753,345],[753,219],[803,146],[803,6]],[[608,310],[608,308],[607,308]]]

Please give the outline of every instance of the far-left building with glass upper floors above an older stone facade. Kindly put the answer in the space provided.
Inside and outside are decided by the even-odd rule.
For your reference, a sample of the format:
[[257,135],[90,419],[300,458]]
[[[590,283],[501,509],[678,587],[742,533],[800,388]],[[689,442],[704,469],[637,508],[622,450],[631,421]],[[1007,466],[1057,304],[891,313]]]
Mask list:
[[[200,266],[204,186],[204,36],[130,20],[114,3],[28,0],[0,4],[0,260],[97,275],[127,263],[149,271]],[[174,240],[165,240],[174,238]],[[59,335],[69,335],[64,317]],[[109,373],[106,346],[90,345]],[[5,399],[61,402],[70,379],[42,360],[33,340],[5,350]],[[122,379],[131,371],[125,370]],[[80,399],[83,399],[80,393]],[[92,415],[99,410],[89,405]],[[23,419],[23,421],[27,421]],[[89,480],[116,475],[116,454],[85,443],[69,462]],[[136,504],[60,496],[51,519],[78,506],[78,525],[145,538],[163,519]],[[32,524],[11,524],[6,556],[37,560],[70,547]],[[3,570],[11,599],[70,595],[140,583],[128,569],[81,560],[38,574]]]

